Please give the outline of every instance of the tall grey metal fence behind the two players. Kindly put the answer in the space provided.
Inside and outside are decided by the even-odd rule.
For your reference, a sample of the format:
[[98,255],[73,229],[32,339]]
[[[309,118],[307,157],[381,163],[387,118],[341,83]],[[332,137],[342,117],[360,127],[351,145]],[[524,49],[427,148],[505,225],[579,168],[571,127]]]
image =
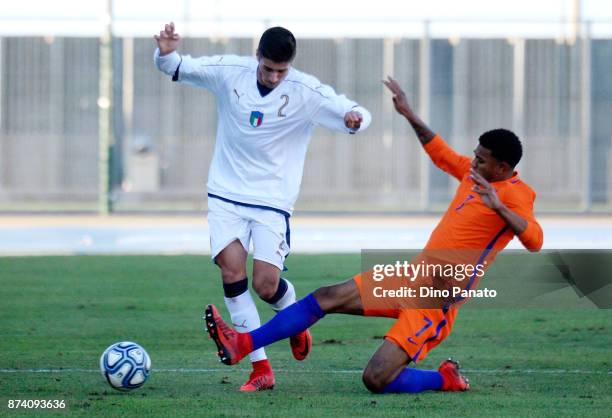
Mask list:
[[[254,39],[185,39],[193,56],[251,55]],[[373,115],[356,136],[316,131],[296,208],[443,209],[436,170],[381,83],[393,74],[430,126],[471,154],[485,130],[522,138],[539,211],[612,211],[612,39],[303,39],[295,67]],[[151,39],[112,42],[113,210],[200,210],[216,130],[214,97],[170,82]],[[0,211],[99,208],[100,43],[0,39]]]

